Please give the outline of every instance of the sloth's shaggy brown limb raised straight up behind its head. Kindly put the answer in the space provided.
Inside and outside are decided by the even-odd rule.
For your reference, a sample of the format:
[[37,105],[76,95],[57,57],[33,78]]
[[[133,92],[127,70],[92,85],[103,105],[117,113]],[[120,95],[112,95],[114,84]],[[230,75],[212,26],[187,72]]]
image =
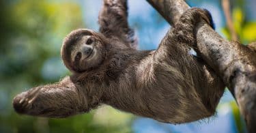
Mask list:
[[126,0],[104,0],[98,17],[100,33],[106,38],[119,38],[131,48],[137,48],[137,38],[128,25]]

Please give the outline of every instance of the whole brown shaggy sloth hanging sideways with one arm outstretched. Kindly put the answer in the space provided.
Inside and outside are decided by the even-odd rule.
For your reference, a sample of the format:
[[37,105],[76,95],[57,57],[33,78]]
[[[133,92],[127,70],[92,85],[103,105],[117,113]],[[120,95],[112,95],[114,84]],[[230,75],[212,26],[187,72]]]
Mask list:
[[17,113],[68,117],[108,104],[166,123],[186,123],[214,115],[223,95],[197,57],[196,27],[213,27],[207,10],[190,8],[156,50],[137,50],[125,0],[104,0],[100,32],[76,29],[63,40],[61,57],[71,76],[16,95]]

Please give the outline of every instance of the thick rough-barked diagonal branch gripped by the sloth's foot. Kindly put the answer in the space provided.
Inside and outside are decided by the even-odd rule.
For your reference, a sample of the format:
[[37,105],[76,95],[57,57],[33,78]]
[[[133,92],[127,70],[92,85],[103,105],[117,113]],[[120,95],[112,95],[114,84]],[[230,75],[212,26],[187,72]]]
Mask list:
[[[147,0],[175,27],[189,6],[183,0]],[[229,42],[205,23],[197,27],[197,53],[229,88],[238,102],[248,132],[256,132],[256,53]]]

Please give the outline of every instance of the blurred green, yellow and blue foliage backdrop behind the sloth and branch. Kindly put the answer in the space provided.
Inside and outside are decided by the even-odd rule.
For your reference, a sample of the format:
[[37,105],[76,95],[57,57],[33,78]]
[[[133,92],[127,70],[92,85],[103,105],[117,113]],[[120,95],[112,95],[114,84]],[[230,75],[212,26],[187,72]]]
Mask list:
[[[70,74],[63,65],[59,53],[62,40],[70,31],[77,28],[97,30],[97,16],[101,2],[100,0],[0,1],[0,133],[143,132],[153,127],[152,125],[138,127],[141,124],[139,120],[144,118],[122,113],[110,106],[102,106],[91,113],[66,119],[46,119],[14,113],[12,108],[14,95],[31,87],[55,83],[59,78]],[[221,1],[190,0],[188,3],[210,10],[216,21],[216,31],[230,39],[229,31],[225,26]],[[169,25],[145,1],[130,0],[129,5],[129,22],[131,27],[137,30],[140,38],[139,48],[142,50],[156,48],[169,29]],[[255,0],[231,1],[236,32],[244,44],[256,40],[256,16],[253,14],[256,10],[253,5],[256,5]],[[227,125],[233,124],[231,129],[234,130],[228,131],[244,132],[244,124],[238,107],[228,91],[218,108],[218,112],[223,113],[228,110],[232,116],[231,122],[227,122]],[[218,115],[216,117],[218,118]],[[147,123],[152,119],[145,121],[142,123]],[[158,122],[152,121],[152,123]],[[195,124],[199,125],[199,123]],[[220,122],[221,124],[223,123]],[[164,128],[166,130],[156,130],[163,129],[160,125],[164,124],[158,123],[154,126],[154,130],[150,131],[185,132],[173,130],[175,125],[171,124],[167,125],[168,130],[166,127]],[[190,125],[184,124],[184,126]],[[213,125],[203,126],[212,127]],[[220,130],[227,131],[224,128]],[[193,132],[193,130],[189,131]]]

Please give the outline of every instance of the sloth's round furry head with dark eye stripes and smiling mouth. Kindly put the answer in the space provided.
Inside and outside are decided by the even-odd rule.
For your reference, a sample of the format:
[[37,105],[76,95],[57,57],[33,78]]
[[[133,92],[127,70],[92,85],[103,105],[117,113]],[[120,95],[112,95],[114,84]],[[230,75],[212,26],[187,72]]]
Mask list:
[[99,33],[88,29],[72,31],[61,48],[63,61],[73,72],[96,68],[104,59],[104,41]]

